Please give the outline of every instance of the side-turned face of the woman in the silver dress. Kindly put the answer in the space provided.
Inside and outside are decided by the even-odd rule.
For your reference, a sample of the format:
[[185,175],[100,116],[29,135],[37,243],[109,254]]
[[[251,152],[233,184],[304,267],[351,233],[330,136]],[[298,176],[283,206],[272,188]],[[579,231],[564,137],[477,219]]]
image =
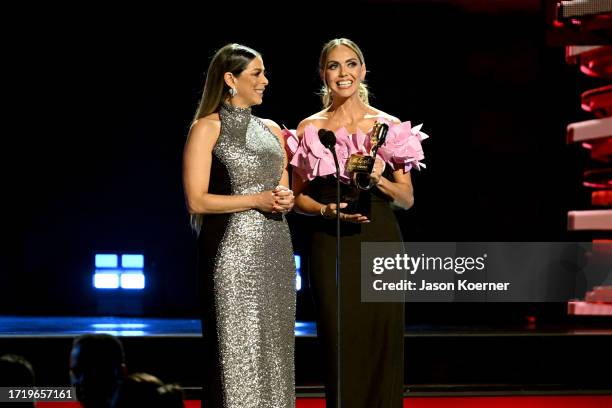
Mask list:
[[263,93],[268,85],[265,67],[261,57],[257,56],[240,74],[226,73],[228,86],[236,89],[238,94],[231,98],[231,103],[239,107],[250,107],[263,102]]

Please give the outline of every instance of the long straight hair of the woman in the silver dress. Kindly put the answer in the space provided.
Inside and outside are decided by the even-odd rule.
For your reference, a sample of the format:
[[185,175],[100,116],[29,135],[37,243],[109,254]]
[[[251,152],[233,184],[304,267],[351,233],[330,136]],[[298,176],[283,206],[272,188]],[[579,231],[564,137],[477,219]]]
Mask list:
[[[240,44],[227,44],[220,48],[210,61],[202,98],[193,121],[218,112],[221,104],[229,97],[229,86],[225,83],[223,76],[231,72],[239,76],[249,63],[261,54],[252,48]],[[191,214],[189,223],[191,228],[199,235],[204,217],[202,214]]]

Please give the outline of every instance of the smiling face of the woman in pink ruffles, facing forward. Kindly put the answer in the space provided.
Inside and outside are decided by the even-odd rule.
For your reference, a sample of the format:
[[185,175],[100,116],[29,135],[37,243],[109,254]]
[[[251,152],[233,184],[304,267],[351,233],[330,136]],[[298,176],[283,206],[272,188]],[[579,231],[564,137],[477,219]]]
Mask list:
[[338,45],[327,54],[321,77],[333,95],[349,98],[357,94],[365,73],[365,64],[357,53],[345,45]]

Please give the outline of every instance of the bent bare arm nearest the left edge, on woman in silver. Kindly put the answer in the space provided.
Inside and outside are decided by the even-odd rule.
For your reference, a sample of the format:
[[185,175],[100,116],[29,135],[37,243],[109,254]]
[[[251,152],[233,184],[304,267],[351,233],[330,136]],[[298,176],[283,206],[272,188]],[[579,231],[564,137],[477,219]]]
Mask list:
[[212,151],[220,132],[220,123],[202,118],[189,130],[183,151],[183,187],[187,209],[191,214],[227,214],[250,209],[271,212],[274,193],[221,195],[209,194]]

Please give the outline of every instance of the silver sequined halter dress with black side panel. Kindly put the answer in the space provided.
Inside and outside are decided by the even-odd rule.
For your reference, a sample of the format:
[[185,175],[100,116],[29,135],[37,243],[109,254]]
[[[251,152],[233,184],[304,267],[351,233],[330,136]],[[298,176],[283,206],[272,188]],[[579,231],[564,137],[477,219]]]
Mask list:
[[[223,105],[209,193],[273,190],[278,138],[250,109]],[[295,406],[295,263],[280,214],[205,215],[198,238],[207,408]]]

